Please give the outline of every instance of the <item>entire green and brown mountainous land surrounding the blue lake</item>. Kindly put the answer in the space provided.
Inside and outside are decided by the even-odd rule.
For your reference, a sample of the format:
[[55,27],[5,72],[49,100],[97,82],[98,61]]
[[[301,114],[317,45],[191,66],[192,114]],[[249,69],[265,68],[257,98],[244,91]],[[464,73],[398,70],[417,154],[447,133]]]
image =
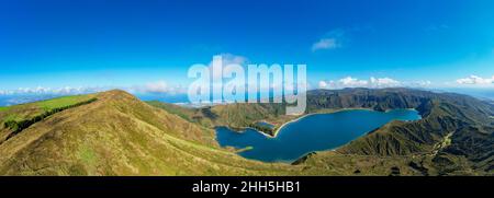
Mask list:
[[[123,91],[64,103],[0,143],[0,175],[492,175],[494,106],[459,94],[409,89],[307,92],[306,113],[345,108],[415,108],[423,119],[392,121],[335,151],[293,164],[246,160],[221,148],[214,127],[277,127],[296,118],[285,104],[228,104],[187,108],[141,102]],[[52,100],[48,101],[54,103]],[[45,102],[46,103],[46,102]],[[57,103],[55,103],[57,104]],[[31,104],[38,105],[36,103]],[[30,106],[30,105],[27,105]],[[30,112],[25,105],[0,110]],[[27,114],[31,115],[31,114]],[[0,126],[0,137],[12,130]]]

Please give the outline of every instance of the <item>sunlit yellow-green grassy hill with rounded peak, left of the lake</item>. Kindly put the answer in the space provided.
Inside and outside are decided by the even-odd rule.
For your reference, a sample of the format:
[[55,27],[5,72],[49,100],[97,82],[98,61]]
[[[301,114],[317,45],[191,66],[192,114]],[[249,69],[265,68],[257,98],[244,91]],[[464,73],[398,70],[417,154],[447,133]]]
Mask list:
[[278,175],[299,167],[244,160],[211,129],[122,91],[53,114],[0,144],[1,175]]

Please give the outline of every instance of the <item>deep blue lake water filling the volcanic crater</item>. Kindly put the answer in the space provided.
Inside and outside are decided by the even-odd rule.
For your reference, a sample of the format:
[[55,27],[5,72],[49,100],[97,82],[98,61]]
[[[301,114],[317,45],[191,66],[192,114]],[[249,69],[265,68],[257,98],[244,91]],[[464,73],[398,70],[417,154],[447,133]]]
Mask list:
[[222,147],[243,149],[239,155],[263,162],[293,162],[312,151],[338,148],[392,120],[418,120],[418,112],[394,109],[386,113],[351,109],[332,114],[314,114],[285,125],[276,138],[254,130],[233,131],[216,128],[216,139]]

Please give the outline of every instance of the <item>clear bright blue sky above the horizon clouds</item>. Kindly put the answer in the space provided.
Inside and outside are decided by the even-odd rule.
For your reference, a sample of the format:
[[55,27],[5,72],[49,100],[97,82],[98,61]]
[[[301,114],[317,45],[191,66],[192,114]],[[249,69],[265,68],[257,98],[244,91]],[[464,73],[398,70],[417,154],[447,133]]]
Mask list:
[[493,10],[490,0],[0,0],[0,90],[169,91],[214,55],[306,63],[312,88],[370,78],[492,88]]

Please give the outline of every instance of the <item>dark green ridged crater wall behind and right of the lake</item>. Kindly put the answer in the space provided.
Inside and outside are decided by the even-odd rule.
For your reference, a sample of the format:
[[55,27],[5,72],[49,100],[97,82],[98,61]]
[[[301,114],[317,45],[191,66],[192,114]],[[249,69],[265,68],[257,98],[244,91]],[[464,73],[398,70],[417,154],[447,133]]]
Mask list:
[[[371,156],[420,156],[437,174],[492,172],[494,106],[460,94],[406,89],[347,89],[308,93],[310,110],[363,107],[375,110],[416,108],[423,119],[392,121],[339,149]],[[444,143],[444,142],[448,143]],[[317,154],[311,158],[325,158]],[[415,163],[415,162],[414,162]],[[420,162],[422,163],[422,162]]]

